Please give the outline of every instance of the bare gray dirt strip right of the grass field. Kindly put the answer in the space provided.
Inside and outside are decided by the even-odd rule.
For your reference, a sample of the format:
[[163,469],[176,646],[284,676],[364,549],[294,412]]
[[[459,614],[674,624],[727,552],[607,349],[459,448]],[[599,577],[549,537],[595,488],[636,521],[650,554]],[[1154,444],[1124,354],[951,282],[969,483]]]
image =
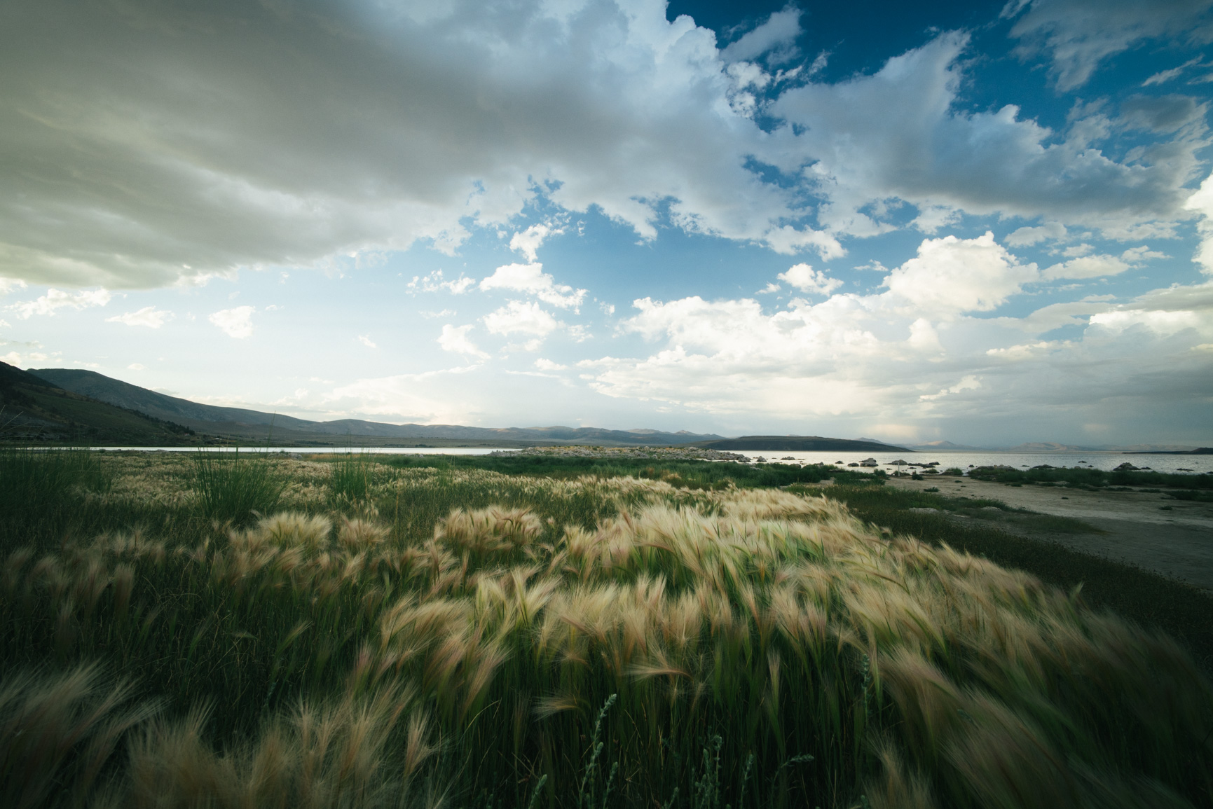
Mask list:
[[[936,486],[939,494],[947,497],[989,497],[1013,508],[1081,519],[1106,534],[1037,531],[1032,536],[1083,553],[1128,562],[1213,591],[1213,503],[1171,500],[1162,494],[1141,491],[1010,486],[943,475],[926,480],[890,478],[889,485],[911,490]],[[1012,525],[1000,528],[1015,530]]]

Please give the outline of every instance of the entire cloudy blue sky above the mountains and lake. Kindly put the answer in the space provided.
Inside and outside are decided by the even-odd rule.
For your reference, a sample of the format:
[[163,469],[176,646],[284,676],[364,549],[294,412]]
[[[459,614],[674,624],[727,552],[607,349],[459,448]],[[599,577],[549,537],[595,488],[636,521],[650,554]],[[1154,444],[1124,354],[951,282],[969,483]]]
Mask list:
[[303,418],[1213,443],[1213,0],[12,0],[0,359]]

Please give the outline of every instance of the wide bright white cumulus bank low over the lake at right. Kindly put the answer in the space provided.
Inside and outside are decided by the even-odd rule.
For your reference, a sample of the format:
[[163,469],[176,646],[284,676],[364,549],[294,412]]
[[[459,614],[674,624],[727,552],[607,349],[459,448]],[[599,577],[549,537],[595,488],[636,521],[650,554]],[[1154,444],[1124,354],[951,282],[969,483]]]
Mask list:
[[[793,300],[774,312],[748,298],[640,298],[622,327],[657,343],[654,349],[579,365],[606,395],[818,426],[959,423],[1004,418],[1014,408],[1035,414],[1048,432],[1058,412],[1115,422],[1154,412],[1160,391],[1180,410],[1213,394],[1213,357],[1200,349],[1213,340],[1213,283],[1124,303],[1094,296],[1023,317],[985,314],[1038,278],[1035,264],[990,234],[927,239],[913,258],[887,270],[885,290],[876,294]],[[1060,326],[1076,326],[1080,336],[1048,338]]]

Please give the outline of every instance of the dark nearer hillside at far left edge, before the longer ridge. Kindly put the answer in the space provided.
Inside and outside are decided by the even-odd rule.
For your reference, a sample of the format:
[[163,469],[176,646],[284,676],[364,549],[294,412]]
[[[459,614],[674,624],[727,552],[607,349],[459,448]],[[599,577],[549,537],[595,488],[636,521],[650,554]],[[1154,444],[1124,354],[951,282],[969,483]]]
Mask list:
[[183,425],[66,391],[0,363],[0,440],[6,443],[195,444]]

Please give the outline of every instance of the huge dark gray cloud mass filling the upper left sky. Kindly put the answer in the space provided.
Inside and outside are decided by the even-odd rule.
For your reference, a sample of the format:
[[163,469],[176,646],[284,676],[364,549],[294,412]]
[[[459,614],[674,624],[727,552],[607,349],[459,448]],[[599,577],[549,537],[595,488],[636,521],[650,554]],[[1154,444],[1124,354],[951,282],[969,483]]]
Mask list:
[[[585,4],[18,2],[0,17],[0,274],[155,285],[457,244],[536,183],[650,229],[761,238],[714,35]],[[440,12],[442,8],[438,8]]]

